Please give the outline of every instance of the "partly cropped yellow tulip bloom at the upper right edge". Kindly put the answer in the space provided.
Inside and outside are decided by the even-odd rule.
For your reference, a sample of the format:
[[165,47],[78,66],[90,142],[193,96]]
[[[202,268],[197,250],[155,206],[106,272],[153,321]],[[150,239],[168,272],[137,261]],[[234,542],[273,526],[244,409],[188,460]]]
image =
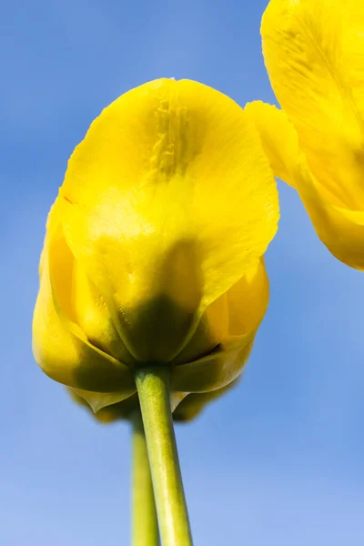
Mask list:
[[296,187],[319,238],[364,268],[364,5],[271,0],[263,54],[283,112],[253,103],[275,175]]

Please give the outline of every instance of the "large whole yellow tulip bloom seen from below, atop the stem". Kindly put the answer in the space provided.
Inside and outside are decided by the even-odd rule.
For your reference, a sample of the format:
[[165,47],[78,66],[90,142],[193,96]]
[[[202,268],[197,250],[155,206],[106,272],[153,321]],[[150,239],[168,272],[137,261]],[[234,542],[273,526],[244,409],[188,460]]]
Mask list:
[[95,410],[131,396],[146,362],[171,363],[175,391],[224,387],[268,305],[277,223],[268,159],[234,101],[168,79],[120,96],[48,217],[35,359]]

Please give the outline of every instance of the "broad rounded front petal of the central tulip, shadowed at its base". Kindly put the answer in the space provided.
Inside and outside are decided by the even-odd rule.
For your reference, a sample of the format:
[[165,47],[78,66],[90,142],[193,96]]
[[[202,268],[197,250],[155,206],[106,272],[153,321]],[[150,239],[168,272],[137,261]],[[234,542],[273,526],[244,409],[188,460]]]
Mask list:
[[60,199],[67,245],[141,361],[177,355],[278,223],[249,117],[187,80],[157,80],[108,106],[76,147]]

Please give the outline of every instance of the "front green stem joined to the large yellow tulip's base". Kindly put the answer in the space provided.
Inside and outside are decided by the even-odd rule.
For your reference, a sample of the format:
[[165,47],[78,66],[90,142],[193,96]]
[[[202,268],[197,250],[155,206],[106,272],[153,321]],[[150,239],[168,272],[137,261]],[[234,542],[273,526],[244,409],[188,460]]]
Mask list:
[[136,370],[136,389],[164,546],[192,546],[187,505],[170,409],[170,369],[150,365]]

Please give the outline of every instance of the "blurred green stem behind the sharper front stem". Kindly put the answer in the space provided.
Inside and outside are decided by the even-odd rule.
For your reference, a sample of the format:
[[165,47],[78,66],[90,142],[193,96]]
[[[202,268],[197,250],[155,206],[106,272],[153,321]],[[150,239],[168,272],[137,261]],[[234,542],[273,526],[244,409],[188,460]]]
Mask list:
[[130,420],[133,426],[132,543],[133,546],[158,546],[156,503],[140,410],[134,411]]

